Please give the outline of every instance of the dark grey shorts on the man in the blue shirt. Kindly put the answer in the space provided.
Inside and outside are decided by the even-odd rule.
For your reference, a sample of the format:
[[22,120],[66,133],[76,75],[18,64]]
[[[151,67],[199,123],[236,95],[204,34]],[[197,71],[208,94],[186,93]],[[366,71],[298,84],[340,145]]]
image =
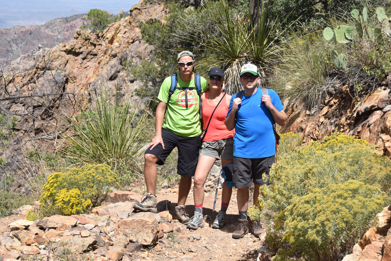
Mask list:
[[[258,185],[266,184],[269,186],[270,168],[276,160],[274,155],[271,157],[246,159],[233,156],[233,183],[235,188],[247,188],[252,182]],[[267,180],[262,179],[262,174],[265,173]]]

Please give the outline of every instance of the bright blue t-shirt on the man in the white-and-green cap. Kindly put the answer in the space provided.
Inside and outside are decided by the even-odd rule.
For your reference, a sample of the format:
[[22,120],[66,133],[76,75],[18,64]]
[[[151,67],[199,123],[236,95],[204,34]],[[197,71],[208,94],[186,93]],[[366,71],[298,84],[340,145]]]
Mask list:
[[[267,89],[271,101],[278,111],[283,109],[280,97],[272,89]],[[233,156],[241,158],[264,158],[276,154],[276,138],[273,132],[273,116],[262,103],[262,90],[257,88],[251,96],[242,95],[242,104],[236,113]],[[232,101],[227,116],[231,113]]]

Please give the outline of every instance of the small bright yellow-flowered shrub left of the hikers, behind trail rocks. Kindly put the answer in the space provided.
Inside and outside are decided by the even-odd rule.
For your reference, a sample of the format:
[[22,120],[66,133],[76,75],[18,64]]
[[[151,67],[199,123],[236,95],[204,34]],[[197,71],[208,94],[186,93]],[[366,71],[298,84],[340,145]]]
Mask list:
[[117,175],[106,164],[76,167],[53,173],[42,188],[39,210],[43,215],[74,215],[99,206],[114,186]]

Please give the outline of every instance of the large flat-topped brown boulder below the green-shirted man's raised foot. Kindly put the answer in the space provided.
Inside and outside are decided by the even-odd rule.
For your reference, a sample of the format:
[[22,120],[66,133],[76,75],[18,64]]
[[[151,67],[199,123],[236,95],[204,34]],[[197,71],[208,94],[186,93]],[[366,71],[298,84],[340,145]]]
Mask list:
[[142,245],[152,246],[163,237],[154,218],[131,217],[121,220],[113,227],[116,236],[126,236],[129,240]]

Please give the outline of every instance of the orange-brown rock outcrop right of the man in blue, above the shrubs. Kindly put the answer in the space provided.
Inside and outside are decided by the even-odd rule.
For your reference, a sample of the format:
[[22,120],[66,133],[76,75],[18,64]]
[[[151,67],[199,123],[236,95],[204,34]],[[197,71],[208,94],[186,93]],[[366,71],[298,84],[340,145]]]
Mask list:
[[286,109],[288,122],[282,132],[301,132],[303,143],[323,139],[332,132],[343,132],[376,145],[391,157],[391,76],[364,97],[354,96],[349,85],[334,86],[325,103],[312,111],[300,104]]

